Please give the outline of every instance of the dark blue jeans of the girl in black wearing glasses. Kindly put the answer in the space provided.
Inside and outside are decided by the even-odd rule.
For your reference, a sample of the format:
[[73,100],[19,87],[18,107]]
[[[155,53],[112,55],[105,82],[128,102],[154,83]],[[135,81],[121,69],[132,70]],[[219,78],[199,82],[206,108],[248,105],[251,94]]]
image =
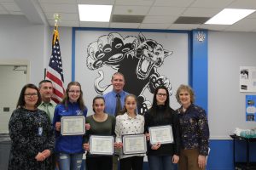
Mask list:
[[172,156],[148,156],[150,170],[174,170]]

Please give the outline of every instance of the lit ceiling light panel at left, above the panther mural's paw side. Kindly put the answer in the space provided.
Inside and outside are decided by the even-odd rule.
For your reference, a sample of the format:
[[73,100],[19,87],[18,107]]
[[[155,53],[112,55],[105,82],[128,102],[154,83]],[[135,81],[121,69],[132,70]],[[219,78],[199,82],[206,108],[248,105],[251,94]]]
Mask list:
[[79,4],[80,21],[109,22],[112,5]]

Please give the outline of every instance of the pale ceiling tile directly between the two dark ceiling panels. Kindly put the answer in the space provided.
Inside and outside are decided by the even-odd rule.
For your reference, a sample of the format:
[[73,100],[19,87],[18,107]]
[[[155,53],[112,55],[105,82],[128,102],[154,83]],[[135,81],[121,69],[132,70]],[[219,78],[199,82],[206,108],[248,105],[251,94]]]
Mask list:
[[144,24],[149,24],[149,23],[173,23],[175,20],[177,20],[177,16],[146,16],[145,19],[143,20]]

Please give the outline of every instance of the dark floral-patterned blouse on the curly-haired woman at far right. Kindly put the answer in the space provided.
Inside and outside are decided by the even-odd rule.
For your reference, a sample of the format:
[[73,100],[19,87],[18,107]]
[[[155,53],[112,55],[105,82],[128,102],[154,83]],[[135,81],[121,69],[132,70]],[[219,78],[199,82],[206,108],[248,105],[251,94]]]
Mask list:
[[199,149],[202,156],[208,155],[209,127],[206,111],[201,107],[191,104],[183,112],[183,108],[177,109],[181,127],[182,148],[184,150]]

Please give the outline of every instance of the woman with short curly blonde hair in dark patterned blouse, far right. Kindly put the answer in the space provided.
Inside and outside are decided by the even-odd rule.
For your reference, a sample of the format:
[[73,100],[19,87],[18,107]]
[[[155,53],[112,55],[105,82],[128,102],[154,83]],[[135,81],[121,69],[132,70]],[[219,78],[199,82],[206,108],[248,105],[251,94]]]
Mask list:
[[195,94],[187,85],[177,88],[177,109],[181,128],[179,170],[203,170],[206,168],[209,147],[209,126],[206,111],[194,105]]

